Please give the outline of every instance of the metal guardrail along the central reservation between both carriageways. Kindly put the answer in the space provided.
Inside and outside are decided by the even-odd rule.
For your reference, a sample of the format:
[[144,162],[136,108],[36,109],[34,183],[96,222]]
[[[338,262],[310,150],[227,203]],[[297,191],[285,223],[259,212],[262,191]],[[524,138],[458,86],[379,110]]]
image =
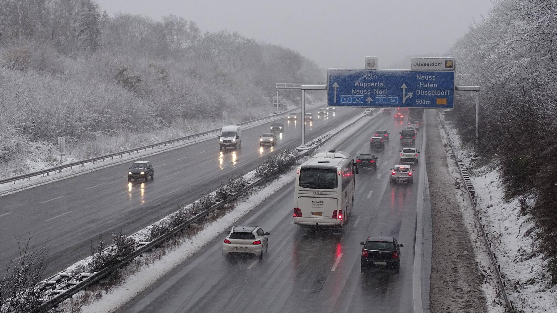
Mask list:
[[[355,119],[350,124],[346,125],[341,129],[338,129],[338,131],[334,133],[329,132],[316,139],[313,139],[312,141],[307,143],[307,145],[312,146],[310,150],[304,151],[303,153],[301,153],[301,156],[308,155],[314,152],[315,150],[323,146],[325,143],[330,141],[330,139],[334,138],[337,134],[345,131],[346,129],[353,126],[356,122],[360,121],[360,119],[368,116],[369,115],[361,115],[359,118]],[[374,116],[372,116],[372,118],[378,116],[379,114],[375,114]],[[220,209],[224,205],[231,203],[232,201],[236,200],[239,196],[243,195],[251,188],[260,185],[262,182],[265,182],[270,179],[271,179],[270,176],[261,177],[251,182],[251,184],[247,185],[242,190],[236,192],[236,194],[232,195],[229,199],[216,203],[206,211],[203,211],[202,213],[193,216],[189,220],[184,221],[184,223],[173,228],[169,233],[161,235],[160,237],[152,240],[151,242],[138,243],[132,253],[119,259],[119,262],[117,264],[114,264],[113,266],[106,267],[95,273],[81,273],[80,275],[68,273],[66,272],[67,270],[64,270],[62,272],[57,273],[56,275],[51,276],[50,278],[47,278],[46,280],[42,281],[39,285],[34,287],[35,290],[40,291],[42,293],[41,298],[43,299],[44,302],[40,306],[34,308],[31,312],[40,313],[40,312],[46,312],[50,309],[53,309],[54,307],[58,306],[66,299],[75,295],[77,292],[85,290],[87,287],[102,280],[102,278],[110,275],[110,273],[113,272],[115,269],[125,266],[134,258],[141,256],[143,253],[149,251],[150,249],[157,247],[159,244],[167,241],[175,234],[182,232],[190,224],[195,223],[196,221],[206,217],[212,211]],[[114,251],[114,249],[115,249],[115,245],[113,244],[110,247],[104,249],[103,252]]]

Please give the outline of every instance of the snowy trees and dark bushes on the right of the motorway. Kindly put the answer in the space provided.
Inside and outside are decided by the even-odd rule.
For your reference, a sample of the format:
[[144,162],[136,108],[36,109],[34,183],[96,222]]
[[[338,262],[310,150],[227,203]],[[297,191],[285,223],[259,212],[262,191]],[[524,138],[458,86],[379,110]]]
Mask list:
[[[480,160],[499,169],[507,198],[531,216],[536,247],[557,283],[557,3],[502,0],[452,48],[457,84],[479,85]],[[475,101],[460,96],[455,119],[473,143]]]

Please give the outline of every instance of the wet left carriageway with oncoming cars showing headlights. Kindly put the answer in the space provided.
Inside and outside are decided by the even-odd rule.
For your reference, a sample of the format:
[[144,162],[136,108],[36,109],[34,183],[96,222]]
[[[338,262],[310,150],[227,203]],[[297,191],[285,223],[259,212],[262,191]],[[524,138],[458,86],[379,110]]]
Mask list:
[[[361,114],[361,108],[337,108],[306,127],[306,142]],[[300,117],[300,113],[298,113]],[[271,122],[242,131],[242,147],[219,152],[218,139],[159,153],[149,160],[155,179],[128,183],[133,161],[52,182],[0,198],[0,268],[19,256],[16,238],[50,247],[45,275],[51,275],[90,256],[100,238],[108,246],[111,235],[132,234],[168,215],[177,204],[189,204],[231,177],[253,170],[281,148],[300,145],[300,124],[283,122],[278,145],[260,148],[259,136]],[[144,143],[138,143],[138,146]],[[102,163],[101,163],[102,164]],[[102,166],[102,165],[100,165]]]

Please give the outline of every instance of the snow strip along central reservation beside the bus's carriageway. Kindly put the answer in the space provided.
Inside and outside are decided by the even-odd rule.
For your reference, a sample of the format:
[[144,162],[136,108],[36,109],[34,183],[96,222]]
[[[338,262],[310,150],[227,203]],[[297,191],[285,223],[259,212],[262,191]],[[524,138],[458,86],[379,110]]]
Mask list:
[[[369,120],[367,118],[361,119],[361,121],[355,123],[351,129],[359,129],[368,123]],[[321,147],[320,150],[331,150],[335,148],[341,142],[348,139],[352,133],[353,131],[348,130],[338,134],[331,139],[330,142]],[[165,254],[165,256],[163,256],[159,261],[141,267],[139,271],[127,277],[123,285],[115,288],[109,293],[104,294],[102,296],[102,300],[95,301],[84,306],[82,312],[114,312],[133,297],[139,295],[141,291],[145,290],[145,288],[149,287],[153,282],[164,277],[164,275],[172,271],[173,268],[185,262],[194,253],[201,250],[219,235],[222,235],[223,232],[236,223],[236,221],[240,220],[244,215],[250,213],[250,211],[255,209],[269,196],[294,181],[295,171],[296,170],[291,170],[287,172],[285,175],[282,175],[266,187],[263,187],[257,192],[257,194],[252,194],[248,199],[236,205],[233,211],[217,219],[210,225],[207,225],[199,233],[193,235],[192,238],[178,245],[178,247],[174,248],[172,251],[167,252],[167,254]],[[141,233],[142,232],[138,232],[136,235]],[[82,262],[86,261],[84,260]],[[79,267],[79,264],[74,264],[74,267]],[[79,297],[79,293],[74,296],[74,298],[76,297]],[[71,306],[69,302],[70,300],[66,300],[65,305]]]

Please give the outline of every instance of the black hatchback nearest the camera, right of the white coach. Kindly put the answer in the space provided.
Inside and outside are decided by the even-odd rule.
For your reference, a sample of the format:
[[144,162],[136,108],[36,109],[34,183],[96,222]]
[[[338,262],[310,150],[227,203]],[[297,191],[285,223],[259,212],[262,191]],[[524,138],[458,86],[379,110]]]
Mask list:
[[396,238],[393,237],[368,237],[365,242],[360,242],[361,248],[361,271],[370,268],[394,269],[398,273],[400,268],[400,247]]

